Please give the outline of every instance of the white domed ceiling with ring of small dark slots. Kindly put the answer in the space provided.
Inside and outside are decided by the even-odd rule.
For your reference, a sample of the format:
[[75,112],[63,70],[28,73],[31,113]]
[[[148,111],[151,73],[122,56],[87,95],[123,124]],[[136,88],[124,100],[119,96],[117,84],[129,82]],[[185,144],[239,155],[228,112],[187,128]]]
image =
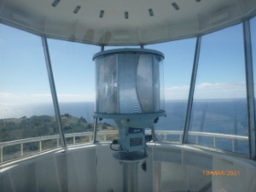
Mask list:
[[[0,0],[0,20],[49,38],[135,45],[213,32],[256,13],[256,0],[61,0],[53,7],[54,1]],[[81,8],[74,14],[77,6]]]

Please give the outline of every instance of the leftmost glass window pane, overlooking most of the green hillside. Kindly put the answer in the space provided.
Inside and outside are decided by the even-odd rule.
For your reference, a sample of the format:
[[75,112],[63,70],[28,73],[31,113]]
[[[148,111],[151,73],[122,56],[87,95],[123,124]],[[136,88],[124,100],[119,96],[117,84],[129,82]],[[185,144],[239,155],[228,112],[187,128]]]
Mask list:
[[[0,143],[38,137],[3,147],[6,161],[57,147],[59,133],[41,38],[2,24],[0,32]],[[55,142],[42,148],[49,135]]]

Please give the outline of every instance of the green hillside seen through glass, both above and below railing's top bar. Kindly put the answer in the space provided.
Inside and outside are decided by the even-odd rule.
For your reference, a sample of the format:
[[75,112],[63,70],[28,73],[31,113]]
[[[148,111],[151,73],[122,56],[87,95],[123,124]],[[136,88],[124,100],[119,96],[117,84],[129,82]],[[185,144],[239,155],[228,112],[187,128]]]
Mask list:
[[[61,123],[64,132],[92,132],[93,124],[88,123],[83,117],[77,118],[69,114],[61,115]],[[99,123],[97,131],[113,131],[117,127],[107,123]],[[26,118],[0,119],[0,143],[26,139],[31,137],[44,137],[57,135],[59,133],[55,116],[41,115]],[[117,134],[108,135],[107,140],[118,138]],[[103,140],[104,137],[99,135],[97,140]],[[89,136],[75,137],[75,143],[87,143],[91,141]],[[66,138],[67,145],[73,144],[73,137]],[[57,139],[48,139],[42,141],[42,150],[56,148]],[[23,156],[38,153],[39,142],[23,143]],[[3,147],[3,161],[20,158],[20,144]]]

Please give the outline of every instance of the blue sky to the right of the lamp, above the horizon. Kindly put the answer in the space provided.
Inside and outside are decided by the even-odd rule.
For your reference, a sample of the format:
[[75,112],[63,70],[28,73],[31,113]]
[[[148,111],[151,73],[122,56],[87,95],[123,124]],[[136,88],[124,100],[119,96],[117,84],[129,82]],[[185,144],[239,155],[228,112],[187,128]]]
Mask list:
[[[195,99],[241,98],[246,96],[242,26],[213,32],[202,37],[195,84]],[[166,55],[167,99],[187,99],[195,38],[149,45]]]

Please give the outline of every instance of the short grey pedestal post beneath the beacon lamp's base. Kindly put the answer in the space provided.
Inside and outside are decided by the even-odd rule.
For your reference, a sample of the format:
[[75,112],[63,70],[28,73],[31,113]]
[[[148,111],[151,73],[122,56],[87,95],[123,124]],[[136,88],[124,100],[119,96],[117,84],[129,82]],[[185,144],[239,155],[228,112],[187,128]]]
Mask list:
[[137,192],[137,162],[123,163],[123,191]]

